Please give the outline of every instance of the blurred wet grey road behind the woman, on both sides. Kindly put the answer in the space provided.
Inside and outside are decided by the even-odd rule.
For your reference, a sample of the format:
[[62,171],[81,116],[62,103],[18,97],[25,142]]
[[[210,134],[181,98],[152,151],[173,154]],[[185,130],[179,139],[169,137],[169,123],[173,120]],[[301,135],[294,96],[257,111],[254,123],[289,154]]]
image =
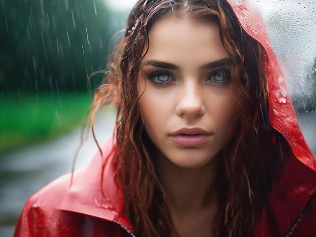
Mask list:
[[[316,154],[316,112],[297,114],[304,137],[312,152]],[[100,144],[112,136],[115,116],[98,114],[95,131]],[[71,171],[72,160],[80,139],[77,130],[63,138],[32,146],[1,157],[0,164],[0,236],[12,236],[16,218],[30,195]],[[89,136],[82,147],[76,168],[85,166],[97,147]]]

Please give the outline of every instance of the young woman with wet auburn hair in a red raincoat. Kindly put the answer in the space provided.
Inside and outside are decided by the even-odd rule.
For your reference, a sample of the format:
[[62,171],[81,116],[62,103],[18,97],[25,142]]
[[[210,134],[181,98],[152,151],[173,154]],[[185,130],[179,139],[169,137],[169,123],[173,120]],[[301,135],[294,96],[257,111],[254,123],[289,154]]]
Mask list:
[[15,236],[316,234],[316,162],[245,1],[140,0],[110,66],[92,114],[117,104],[113,139]]

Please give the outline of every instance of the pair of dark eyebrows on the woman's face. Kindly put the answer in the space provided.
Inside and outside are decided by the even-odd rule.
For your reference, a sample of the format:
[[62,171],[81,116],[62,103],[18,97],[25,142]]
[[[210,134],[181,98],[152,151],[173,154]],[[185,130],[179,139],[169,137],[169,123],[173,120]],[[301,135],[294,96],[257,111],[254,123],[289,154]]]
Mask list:
[[[232,65],[231,60],[229,58],[222,58],[221,60],[218,60],[218,61],[215,61],[212,63],[208,63],[208,64],[204,64],[204,65],[200,66],[199,69],[200,70],[213,69],[213,68],[218,68],[218,67],[227,66],[227,65]],[[144,61],[142,66],[153,66],[153,67],[157,67],[157,68],[164,68],[164,69],[169,69],[169,70],[180,71],[180,67],[175,65],[175,64],[157,61],[157,60]]]

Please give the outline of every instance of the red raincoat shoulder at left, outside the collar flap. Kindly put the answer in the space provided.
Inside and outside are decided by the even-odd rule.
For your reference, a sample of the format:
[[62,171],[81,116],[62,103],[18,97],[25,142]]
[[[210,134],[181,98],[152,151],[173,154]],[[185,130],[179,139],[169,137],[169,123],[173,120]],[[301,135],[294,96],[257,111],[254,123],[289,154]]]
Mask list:
[[61,208],[71,174],[64,175],[35,193],[18,219],[18,236],[130,236],[114,221]]

